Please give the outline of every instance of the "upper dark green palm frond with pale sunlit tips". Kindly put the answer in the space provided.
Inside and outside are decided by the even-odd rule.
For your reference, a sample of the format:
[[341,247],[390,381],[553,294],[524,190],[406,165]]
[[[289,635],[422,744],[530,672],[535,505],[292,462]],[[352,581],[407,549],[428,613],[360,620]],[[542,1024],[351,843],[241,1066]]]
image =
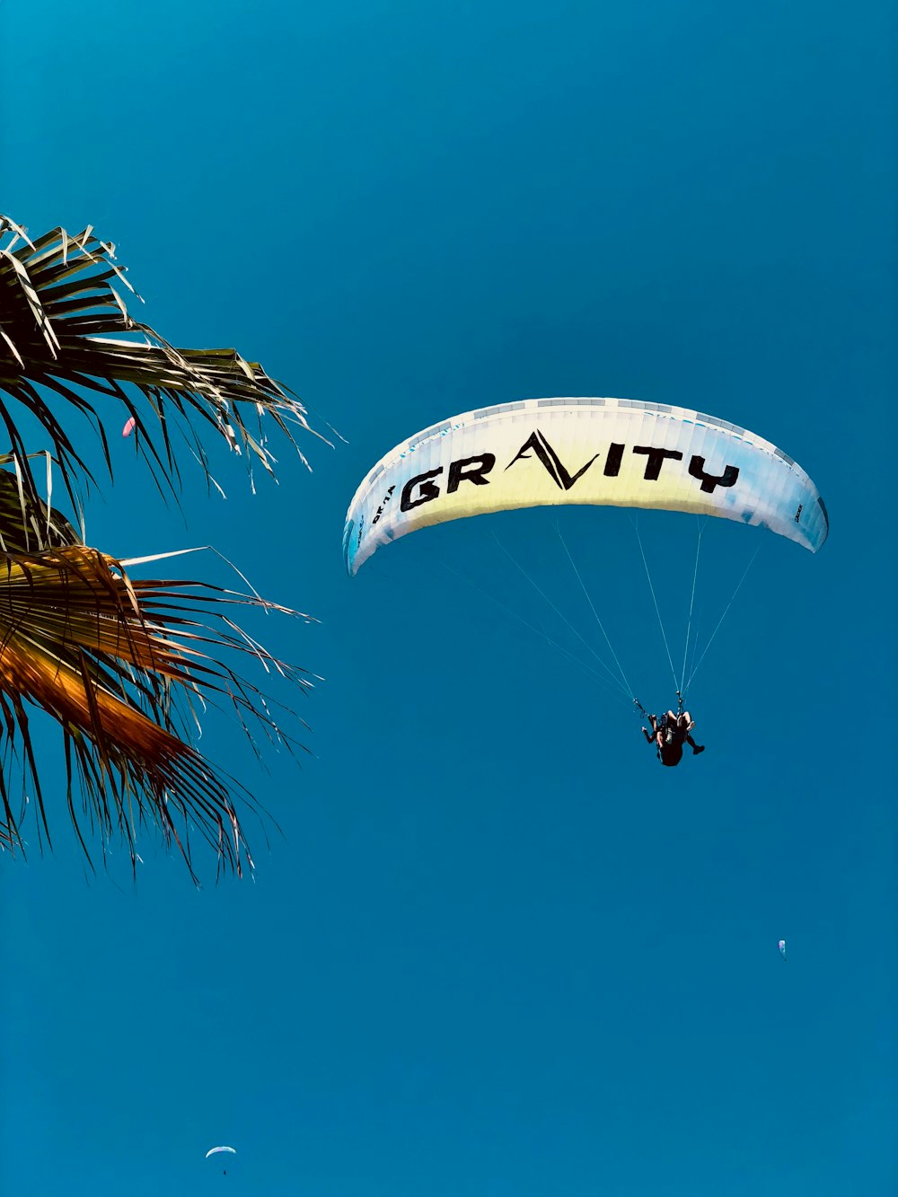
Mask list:
[[[117,415],[123,409],[134,417],[138,448],[157,485],[172,493],[180,482],[176,430],[210,482],[208,435],[220,436],[249,462],[273,473],[266,417],[267,426],[275,425],[303,456],[296,432],[311,429],[296,395],[235,350],[174,348],[132,318],[126,290],[135,294],[115,262],[115,247],[95,237],[91,227],[77,237],[54,229],[31,241],[0,215],[0,425],[31,502],[38,502],[37,487],[10,399],[42,426],[49,438],[42,448],[51,452],[73,502],[81,479],[93,475],[69,435],[60,399],[98,432],[110,475],[104,424],[111,401],[120,401]],[[139,403],[141,395],[148,412]]]

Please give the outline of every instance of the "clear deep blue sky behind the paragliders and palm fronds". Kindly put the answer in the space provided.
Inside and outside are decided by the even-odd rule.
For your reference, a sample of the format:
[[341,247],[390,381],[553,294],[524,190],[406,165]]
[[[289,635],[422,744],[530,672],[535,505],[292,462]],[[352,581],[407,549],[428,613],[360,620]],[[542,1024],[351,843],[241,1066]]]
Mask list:
[[[136,885],[117,845],[86,877],[61,791],[55,851],[31,828],[0,861],[4,1191],[893,1192],[890,6],[85,0],[2,24],[0,208],[93,224],[169,340],[236,345],[348,442],[255,496],[219,460],[226,503],[194,478],[184,516],[121,443],[89,508],[110,552],[213,543],[316,615],[254,631],[326,681],[299,768],[204,730],[283,831],[250,825],[254,881],[208,862],[198,891],[151,840]],[[535,395],[712,412],[826,499],[818,557],[766,537],[676,771],[468,584],[575,648],[494,531],[596,638],[545,512],[345,576],[383,452]],[[630,524],[564,515],[667,704]],[[694,524],[639,531],[681,652]],[[705,639],[762,535],[709,527]]]

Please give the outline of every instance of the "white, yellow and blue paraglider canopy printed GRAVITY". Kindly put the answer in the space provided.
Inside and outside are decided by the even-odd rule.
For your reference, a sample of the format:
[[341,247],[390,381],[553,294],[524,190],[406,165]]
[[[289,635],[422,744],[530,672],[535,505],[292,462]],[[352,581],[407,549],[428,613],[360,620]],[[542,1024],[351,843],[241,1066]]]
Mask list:
[[805,470],[753,432],[665,403],[528,399],[465,412],[382,457],[346,514],[346,569],[427,524],[569,503],[721,516],[814,553],[829,531]]

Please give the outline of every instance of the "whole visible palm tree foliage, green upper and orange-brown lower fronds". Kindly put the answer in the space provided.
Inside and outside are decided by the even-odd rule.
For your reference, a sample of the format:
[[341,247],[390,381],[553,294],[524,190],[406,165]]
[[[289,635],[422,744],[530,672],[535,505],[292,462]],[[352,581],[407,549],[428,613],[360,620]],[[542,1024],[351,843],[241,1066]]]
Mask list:
[[[99,834],[105,851],[119,834],[135,862],[140,827],[151,825],[178,846],[192,874],[198,836],[219,865],[239,873],[249,853],[236,803],[254,801],[190,739],[212,704],[236,718],[257,755],[266,746],[297,747],[269,700],[227,664],[253,656],[308,688],[302,670],[236,622],[247,607],[297,613],[202,582],[129,577],[126,566],[139,563],[89,548],[83,527],[51,506],[53,470],[83,524],[80,485],[96,480],[69,435],[74,414],[98,433],[110,478],[110,405],[133,415],[138,449],[158,488],[172,494],[181,480],[176,435],[217,486],[211,437],[273,473],[265,418],[301,457],[296,436],[311,430],[302,402],[257,363],[233,350],[174,348],[132,318],[126,291],[134,294],[114,247],[91,229],[31,241],[0,217],[0,427],[10,448],[0,456],[0,845],[24,849],[26,800],[13,798],[11,757],[49,840],[30,723],[42,711],[62,729],[68,810],[89,857],[89,836]],[[42,430],[40,454],[29,454],[17,417]]]

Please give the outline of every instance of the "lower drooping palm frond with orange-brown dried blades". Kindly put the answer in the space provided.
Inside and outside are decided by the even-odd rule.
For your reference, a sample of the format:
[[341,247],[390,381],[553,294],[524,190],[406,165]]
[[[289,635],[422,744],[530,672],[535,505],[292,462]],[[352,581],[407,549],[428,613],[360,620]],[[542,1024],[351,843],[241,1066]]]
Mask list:
[[[241,871],[249,855],[235,796],[251,797],[188,742],[184,721],[195,717],[193,703],[227,705],[254,746],[255,728],[290,749],[261,692],[219,658],[250,655],[310,685],[239,630],[233,613],[245,607],[297,614],[199,582],[131,578],[122,563],[83,545],[0,553],[0,719],[48,839],[30,706],[62,728],[68,809],[85,852],[84,819],[104,846],[121,836],[132,861],[138,828],[150,824],[177,844],[192,874],[192,833]],[[2,773],[0,803],[0,839],[20,846],[20,813]]]

